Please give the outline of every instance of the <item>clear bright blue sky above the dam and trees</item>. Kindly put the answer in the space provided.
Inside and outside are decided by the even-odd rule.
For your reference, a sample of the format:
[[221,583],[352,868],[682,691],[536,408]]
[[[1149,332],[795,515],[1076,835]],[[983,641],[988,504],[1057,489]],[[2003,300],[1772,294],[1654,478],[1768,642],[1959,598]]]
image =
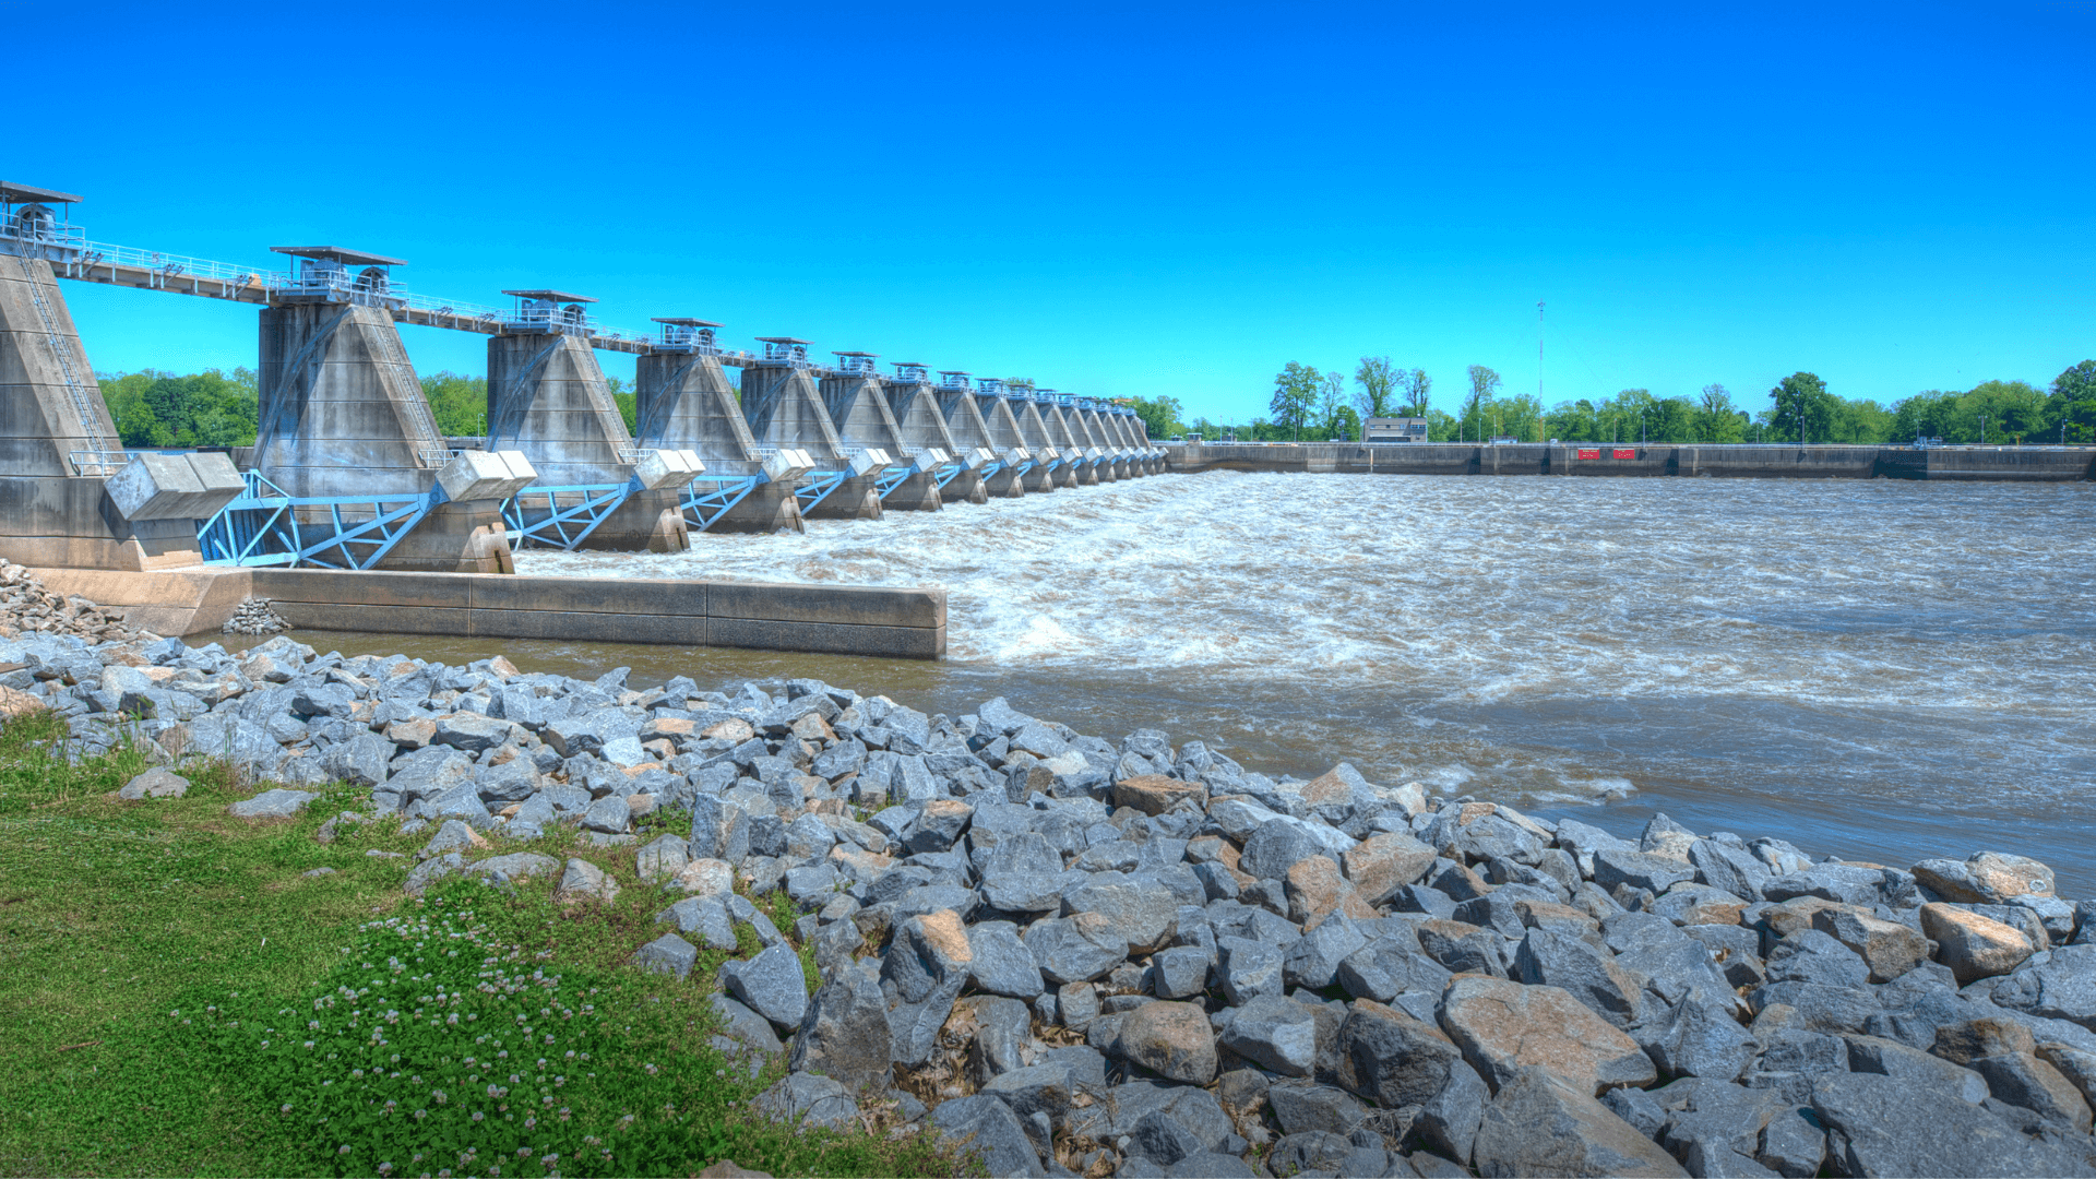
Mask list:
[[[1239,420],[1285,361],[1534,390],[1536,300],[1547,401],[2096,355],[2090,4],[757,8],[17,6],[0,176],[101,241]],[[65,290],[103,371],[254,363],[249,308]]]

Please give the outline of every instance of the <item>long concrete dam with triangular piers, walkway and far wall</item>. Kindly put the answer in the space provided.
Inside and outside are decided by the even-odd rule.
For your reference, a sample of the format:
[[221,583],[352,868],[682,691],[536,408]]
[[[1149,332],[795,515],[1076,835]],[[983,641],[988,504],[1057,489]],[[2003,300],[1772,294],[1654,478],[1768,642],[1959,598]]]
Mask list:
[[[400,279],[405,260],[367,250],[277,245],[283,269],[275,269],[99,243],[71,222],[78,201],[0,183],[0,558],[50,571],[180,573],[140,583],[157,590],[107,579],[99,590],[101,600],[140,608],[172,594],[159,604],[163,625],[203,627],[231,608],[224,585],[237,581],[212,590],[216,573],[312,571],[321,583],[367,585],[371,606],[413,604],[417,627],[472,634],[474,619],[511,619],[522,606],[516,592],[505,592],[501,610],[476,606],[493,598],[470,577],[509,577],[524,550],[681,554],[706,533],[996,510],[994,501],[1084,495],[1165,472],[2096,476],[2092,447],[1159,445],[1130,405],[1031,380],[920,361],[895,361],[885,373],[876,352],[817,359],[796,336],[757,336],[740,350],[721,344],[721,323],[687,315],[656,317],[654,331],[618,331],[595,321],[593,296],[553,285],[503,290],[507,306],[434,298]],[[61,279],[256,306],[256,445],[126,449]],[[484,436],[438,430],[402,325],[486,338]],[[631,426],[597,365],[602,350],[635,357]],[[417,581],[411,600],[390,600],[407,594],[407,581],[367,579],[379,573],[434,581]],[[298,585],[344,608],[365,594],[314,590],[321,583]],[[669,598],[690,604],[704,594]],[[910,621],[899,623],[866,596],[838,598],[834,613],[807,587],[776,598],[788,602],[780,619],[740,621],[778,625],[723,623],[708,634],[830,644],[809,650],[943,650],[943,604],[912,600]],[[543,638],[602,638],[604,627],[662,642],[692,634],[635,623],[643,615],[633,610],[612,621],[587,613],[534,610],[528,627]],[[882,646],[880,636],[903,638]]]

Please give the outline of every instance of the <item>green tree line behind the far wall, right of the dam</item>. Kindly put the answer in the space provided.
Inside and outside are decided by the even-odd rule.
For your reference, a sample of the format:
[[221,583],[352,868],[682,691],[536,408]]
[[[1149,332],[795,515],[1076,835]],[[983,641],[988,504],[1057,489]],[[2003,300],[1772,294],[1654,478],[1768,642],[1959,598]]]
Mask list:
[[1694,396],[1626,388],[1545,407],[1532,394],[1501,392],[1501,376],[1486,365],[1469,365],[1463,378],[1457,411],[1448,413],[1432,405],[1434,380],[1423,369],[1390,357],[1362,357],[1352,382],[1339,369],[1289,361],[1274,373],[1268,411],[1251,422],[1188,420],[1174,396],[1136,399],[1136,413],[1153,438],[1201,434],[1253,443],[1358,441],[1362,417],[1425,417],[1432,443],[2096,443],[2096,361],[2069,367],[2044,390],[1989,380],[1893,405],[1838,396],[1815,373],[1798,371],[1777,382],[1759,409],[1735,403],[1723,384],[1706,384]]

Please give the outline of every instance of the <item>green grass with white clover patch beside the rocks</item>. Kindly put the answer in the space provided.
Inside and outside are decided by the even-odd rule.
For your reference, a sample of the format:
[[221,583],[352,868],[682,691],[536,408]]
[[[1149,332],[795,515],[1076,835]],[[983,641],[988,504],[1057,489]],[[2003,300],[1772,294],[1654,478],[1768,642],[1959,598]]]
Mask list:
[[[421,837],[392,820],[312,837],[363,810],[361,789],[260,822],[226,816],[252,791],[222,772],[193,774],[182,799],[117,801],[145,762],[67,764],[61,736],[46,715],[0,728],[4,1175],[964,1164],[878,1116],[849,1135],[750,1116],[778,1064],[752,1078],[717,1053],[706,994],[755,934],[738,929],[736,952],[702,955],[683,982],[627,965],[671,900],[637,879],[633,848],[568,831],[503,848],[602,864],[623,887],[610,904],[558,904],[553,881],[446,881],[411,900],[413,856],[365,852]],[[300,875],[321,866],[335,875]],[[773,913],[784,931],[790,917]]]

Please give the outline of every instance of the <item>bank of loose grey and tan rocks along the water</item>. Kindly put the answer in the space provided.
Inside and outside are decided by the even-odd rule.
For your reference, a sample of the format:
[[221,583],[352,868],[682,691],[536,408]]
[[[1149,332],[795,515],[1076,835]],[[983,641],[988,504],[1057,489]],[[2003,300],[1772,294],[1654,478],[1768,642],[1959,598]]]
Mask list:
[[[71,610],[86,634],[0,640],[0,703],[63,713],[75,753],[145,743],[168,768],[128,797],[197,755],[268,787],[241,816],[358,783],[323,839],[428,831],[409,892],[587,902],[616,879],[503,850],[572,824],[664,894],[637,963],[755,927],[717,1005],[784,1053],[778,1116],[895,1101],[996,1175],[2096,1171],[2096,902],[2037,860],[1813,860],[1664,816],[1629,841],[1002,699],[228,655]],[[687,835],[639,843],[652,812]],[[792,929],[748,900],[776,889]]]

